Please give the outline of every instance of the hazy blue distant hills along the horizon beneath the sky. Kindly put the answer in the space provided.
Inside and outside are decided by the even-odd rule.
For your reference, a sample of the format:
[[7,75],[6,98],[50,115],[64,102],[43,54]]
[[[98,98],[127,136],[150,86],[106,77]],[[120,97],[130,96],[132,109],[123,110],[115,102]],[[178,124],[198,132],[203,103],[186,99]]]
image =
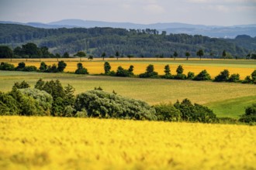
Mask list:
[[40,22],[0,22],[19,24],[25,26],[33,26],[44,29],[58,28],[94,28],[94,27],[111,27],[122,29],[157,29],[159,32],[165,31],[169,33],[185,33],[189,35],[202,35],[216,38],[234,39],[238,35],[256,36],[256,24],[240,25],[240,26],[204,26],[192,25],[179,22],[172,23],[154,23],[154,24],[136,24],[131,22],[101,22],[81,19],[64,19],[57,22],[40,23]]

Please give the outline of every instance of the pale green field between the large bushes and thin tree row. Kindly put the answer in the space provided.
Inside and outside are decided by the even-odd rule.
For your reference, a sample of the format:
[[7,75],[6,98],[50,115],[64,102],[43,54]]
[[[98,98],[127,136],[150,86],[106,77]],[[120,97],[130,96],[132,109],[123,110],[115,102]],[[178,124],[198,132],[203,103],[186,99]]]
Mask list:
[[71,73],[0,71],[0,91],[10,91],[15,82],[22,80],[26,80],[33,87],[40,78],[58,79],[64,86],[69,83],[76,89],[75,93],[102,87],[108,92],[115,90],[120,95],[144,100],[152,105],[175,103],[176,100],[189,98],[192,102],[209,106],[220,117],[238,117],[244,114],[244,107],[256,102],[256,87],[253,84],[78,76]]

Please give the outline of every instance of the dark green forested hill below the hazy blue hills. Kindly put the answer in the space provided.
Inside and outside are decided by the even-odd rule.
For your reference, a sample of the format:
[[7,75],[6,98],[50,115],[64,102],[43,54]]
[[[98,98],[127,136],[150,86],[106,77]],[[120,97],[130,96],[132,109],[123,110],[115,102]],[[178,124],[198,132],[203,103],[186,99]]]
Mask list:
[[226,50],[233,56],[242,57],[256,49],[256,38],[251,38],[250,41],[251,46],[244,46],[244,42],[240,43],[239,39],[235,41],[187,34],[167,35],[156,29],[39,29],[0,24],[0,45],[15,48],[26,42],[34,42],[37,46],[47,46],[53,53],[61,54],[85,51],[93,56],[101,56],[103,52],[107,56],[114,56],[118,51],[120,56],[170,57],[175,51],[178,56],[185,56],[185,52],[196,56],[196,51],[203,49],[205,56],[213,53],[218,57]]

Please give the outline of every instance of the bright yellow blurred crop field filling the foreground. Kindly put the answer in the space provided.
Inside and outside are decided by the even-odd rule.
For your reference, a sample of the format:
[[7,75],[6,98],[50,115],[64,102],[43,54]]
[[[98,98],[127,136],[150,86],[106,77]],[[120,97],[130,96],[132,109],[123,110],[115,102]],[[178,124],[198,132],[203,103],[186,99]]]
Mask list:
[[256,128],[0,117],[0,169],[255,169]]

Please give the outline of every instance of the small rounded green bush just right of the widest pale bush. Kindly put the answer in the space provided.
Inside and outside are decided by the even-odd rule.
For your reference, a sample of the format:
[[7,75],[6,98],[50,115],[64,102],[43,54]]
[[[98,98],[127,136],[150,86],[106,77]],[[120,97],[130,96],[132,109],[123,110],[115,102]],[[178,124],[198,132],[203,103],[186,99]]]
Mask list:
[[157,121],[180,121],[181,112],[172,104],[154,105],[156,110]]

